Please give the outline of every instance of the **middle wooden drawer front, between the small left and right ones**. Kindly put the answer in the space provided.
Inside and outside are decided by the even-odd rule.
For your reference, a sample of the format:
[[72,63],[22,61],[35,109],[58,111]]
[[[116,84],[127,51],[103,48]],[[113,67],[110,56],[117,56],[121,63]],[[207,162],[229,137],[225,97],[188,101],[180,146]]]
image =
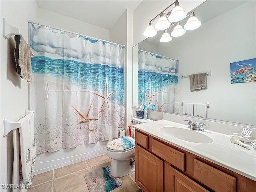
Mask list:
[[152,152],[176,168],[185,171],[185,154],[155,139],[152,139]]

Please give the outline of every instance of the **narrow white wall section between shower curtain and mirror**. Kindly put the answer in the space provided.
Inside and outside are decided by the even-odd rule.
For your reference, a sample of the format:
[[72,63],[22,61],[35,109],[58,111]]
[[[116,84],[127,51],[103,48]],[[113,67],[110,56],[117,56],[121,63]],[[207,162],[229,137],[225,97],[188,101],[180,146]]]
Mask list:
[[132,118],[132,11],[126,10],[110,30],[110,41],[125,45],[124,102],[127,129]]

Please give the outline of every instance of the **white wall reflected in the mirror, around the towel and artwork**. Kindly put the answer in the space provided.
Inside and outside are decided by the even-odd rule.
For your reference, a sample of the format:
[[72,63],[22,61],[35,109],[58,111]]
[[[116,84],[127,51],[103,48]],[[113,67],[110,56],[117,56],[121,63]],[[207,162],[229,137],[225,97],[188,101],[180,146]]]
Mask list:
[[[179,103],[211,102],[208,118],[256,125],[256,83],[230,83],[230,63],[256,58],[255,7],[255,1],[246,2],[159,49],[179,60]],[[190,92],[189,78],[181,79],[208,70],[206,90]]]

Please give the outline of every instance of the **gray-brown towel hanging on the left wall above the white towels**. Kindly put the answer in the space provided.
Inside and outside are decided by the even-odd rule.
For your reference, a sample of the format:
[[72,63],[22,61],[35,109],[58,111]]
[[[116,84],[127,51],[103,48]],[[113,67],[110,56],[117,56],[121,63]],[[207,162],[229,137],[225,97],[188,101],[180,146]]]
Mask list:
[[14,57],[16,62],[17,74],[22,79],[31,81],[31,50],[26,40],[21,35],[16,35]]

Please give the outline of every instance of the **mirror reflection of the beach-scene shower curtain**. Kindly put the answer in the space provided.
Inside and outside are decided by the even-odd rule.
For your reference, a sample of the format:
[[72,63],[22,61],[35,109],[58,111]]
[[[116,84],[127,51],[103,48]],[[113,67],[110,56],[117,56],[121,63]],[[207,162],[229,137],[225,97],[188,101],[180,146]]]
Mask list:
[[138,106],[178,112],[178,60],[138,50]]

